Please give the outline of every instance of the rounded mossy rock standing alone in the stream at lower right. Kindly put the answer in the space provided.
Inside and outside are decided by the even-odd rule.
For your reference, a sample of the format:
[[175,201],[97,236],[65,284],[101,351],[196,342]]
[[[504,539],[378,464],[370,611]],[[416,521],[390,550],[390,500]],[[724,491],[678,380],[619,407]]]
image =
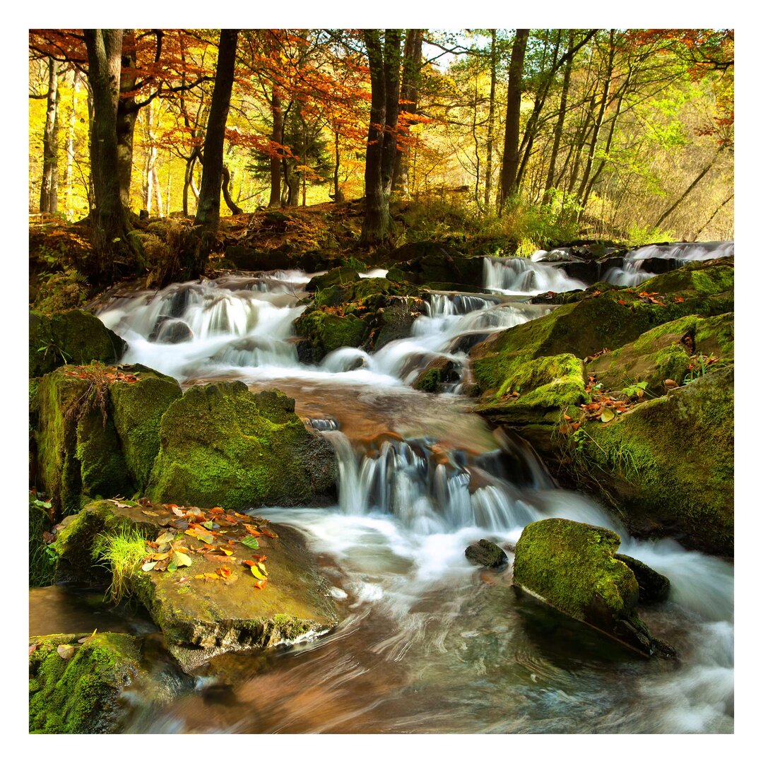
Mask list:
[[639,584],[614,554],[620,536],[564,519],[527,525],[517,541],[513,584],[607,636],[652,655],[657,645],[636,613]]

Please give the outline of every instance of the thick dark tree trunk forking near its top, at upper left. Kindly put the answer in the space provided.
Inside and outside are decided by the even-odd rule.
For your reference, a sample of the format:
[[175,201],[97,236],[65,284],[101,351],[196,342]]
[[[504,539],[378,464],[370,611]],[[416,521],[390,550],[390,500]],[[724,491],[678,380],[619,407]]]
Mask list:
[[88,81],[92,92],[93,121],[90,166],[95,214],[92,215],[95,274],[104,280],[114,275],[120,256],[134,256],[127,233],[130,224],[120,197],[117,166],[117,105],[121,73],[121,29],[85,29]]

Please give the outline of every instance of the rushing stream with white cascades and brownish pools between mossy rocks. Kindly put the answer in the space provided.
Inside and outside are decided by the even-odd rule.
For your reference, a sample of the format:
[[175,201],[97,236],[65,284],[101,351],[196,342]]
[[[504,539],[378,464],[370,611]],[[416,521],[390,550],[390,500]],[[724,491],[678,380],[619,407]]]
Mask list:
[[[469,413],[460,382],[437,395],[410,387],[436,356],[464,381],[475,341],[552,309],[528,295],[585,286],[546,263],[517,262],[486,258],[493,294],[430,294],[407,339],[373,354],[342,348],[319,365],[301,364],[295,349],[292,324],[309,301],[302,272],[172,285],[101,310],[129,343],[123,362],[184,387],[237,378],[285,391],[333,444],[340,469],[334,507],[256,510],[304,534],[346,613],[340,626],[214,658],[192,681],[154,655],[155,680],[175,698],[130,687],[129,732],[733,732],[732,565],[629,537],[591,498],[558,488],[526,443]],[[678,661],[627,652],[517,597],[510,571],[465,559],[469,543],[516,542],[544,517],[610,527],[621,552],[670,578],[670,600],[641,614]],[[140,613],[66,591],[31,598],[32,620],[59,632],[105,617],[111,629],[155,630]]]

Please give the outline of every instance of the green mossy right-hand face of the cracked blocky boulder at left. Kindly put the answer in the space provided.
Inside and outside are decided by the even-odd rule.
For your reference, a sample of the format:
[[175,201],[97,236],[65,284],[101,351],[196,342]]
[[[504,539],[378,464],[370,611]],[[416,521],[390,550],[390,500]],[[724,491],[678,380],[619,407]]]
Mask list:
[[139,381],[115,381],[109,386],[114,428],[134,484],[143,491],[159,453],[162,417],[172,401],[182,397],[182,391],[178,382],[169,376],[143,367],[123,368],[137,372]]

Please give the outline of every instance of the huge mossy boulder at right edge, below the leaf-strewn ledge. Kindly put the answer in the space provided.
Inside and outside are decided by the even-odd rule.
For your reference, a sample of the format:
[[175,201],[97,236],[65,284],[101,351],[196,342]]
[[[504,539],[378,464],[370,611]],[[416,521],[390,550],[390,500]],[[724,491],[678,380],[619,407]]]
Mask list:
[[583,424],[567,462],[578,484],[604,488],[634,534],[733,555],[733,365]]

